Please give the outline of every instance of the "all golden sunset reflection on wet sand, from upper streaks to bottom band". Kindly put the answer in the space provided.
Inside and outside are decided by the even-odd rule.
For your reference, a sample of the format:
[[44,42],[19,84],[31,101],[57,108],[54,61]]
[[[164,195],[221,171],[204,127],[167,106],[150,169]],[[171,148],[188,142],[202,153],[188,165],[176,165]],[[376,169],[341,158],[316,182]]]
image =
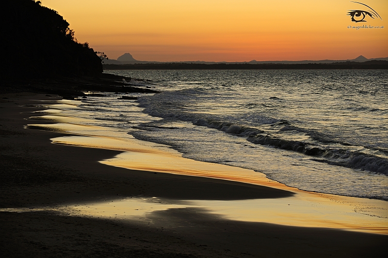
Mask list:
[[128,138],[128,134],[117,130],[111,129],[112,137],[105,137],[105,128],[83,127],[77,125],[77,119],[72,121],[70,117],[55,115],[45,115],[42,118],[62,123],[29,127],[89,135],[52,138],[54,144],[123,151],[112,159],[99,161],[103,164],[131,170],[226,179],[293,193],[277,198],[250,197],[246,200],[185,200],[179,196],[175,196],[175,200],[159,198],[160,196],[113,199],[72,204],[67,210],[70,214],[129,220],[144,218],[148,223],[148,214],[155,210],[191,208],[229,220],[388,234],[388,205],[385,201],[305,192],[270,180],[253,170],[185,159],[178,152],[163,145]]

